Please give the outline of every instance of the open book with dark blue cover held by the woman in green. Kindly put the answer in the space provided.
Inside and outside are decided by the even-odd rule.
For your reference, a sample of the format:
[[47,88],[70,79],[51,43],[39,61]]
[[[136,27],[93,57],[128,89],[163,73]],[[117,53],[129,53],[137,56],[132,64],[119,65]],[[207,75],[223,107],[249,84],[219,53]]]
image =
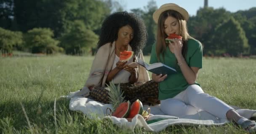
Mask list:
[[145,67],[149,72],[155,73],[157,75],[162,74],[162,75],[171,75],[177,73],[177,71],[163,63],[154,63],[154,64],[147,64],[146,62],[143,62],[142,60],[138,59],[138,62],[141,66]]

